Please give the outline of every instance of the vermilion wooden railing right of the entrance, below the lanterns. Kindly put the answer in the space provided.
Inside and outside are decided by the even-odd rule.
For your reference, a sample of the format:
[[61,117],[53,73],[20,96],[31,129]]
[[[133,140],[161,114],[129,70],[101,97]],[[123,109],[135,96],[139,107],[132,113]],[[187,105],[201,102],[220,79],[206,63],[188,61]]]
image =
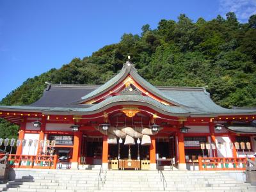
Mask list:
[[248,163],[245,157],[198,157],[198,165],[204,171],[246,170]]

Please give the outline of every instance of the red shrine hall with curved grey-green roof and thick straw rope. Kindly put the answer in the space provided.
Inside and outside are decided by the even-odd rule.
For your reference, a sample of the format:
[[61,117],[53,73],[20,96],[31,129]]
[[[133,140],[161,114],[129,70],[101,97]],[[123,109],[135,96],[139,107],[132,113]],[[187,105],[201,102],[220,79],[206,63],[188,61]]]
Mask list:
[[20,125],[17,168],[237,170],[256,150],[256,108],[153,86],[129,61],[101,86],[49,83],[29,106],[0,106],[0,117]]

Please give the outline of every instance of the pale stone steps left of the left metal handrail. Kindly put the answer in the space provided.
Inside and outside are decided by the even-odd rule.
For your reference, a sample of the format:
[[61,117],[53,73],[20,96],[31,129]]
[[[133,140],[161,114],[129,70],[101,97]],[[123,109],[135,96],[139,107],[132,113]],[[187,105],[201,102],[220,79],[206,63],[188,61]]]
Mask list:
[[[0,191],[81,192],[98,189],[99,170],[15,170]],[[2,189],[1,189],[2,188]]]

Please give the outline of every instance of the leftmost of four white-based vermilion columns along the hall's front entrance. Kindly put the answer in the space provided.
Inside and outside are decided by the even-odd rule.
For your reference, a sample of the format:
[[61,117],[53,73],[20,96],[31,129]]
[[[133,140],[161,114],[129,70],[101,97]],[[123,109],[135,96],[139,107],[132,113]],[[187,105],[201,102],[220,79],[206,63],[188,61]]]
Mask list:
[[71,168],[77,169],[78,168],[78,159],[80,154],[80,145],[81,145],[82,134],[80,131],[74,132],[74,144],[73,144],[73,154],[71,160]]

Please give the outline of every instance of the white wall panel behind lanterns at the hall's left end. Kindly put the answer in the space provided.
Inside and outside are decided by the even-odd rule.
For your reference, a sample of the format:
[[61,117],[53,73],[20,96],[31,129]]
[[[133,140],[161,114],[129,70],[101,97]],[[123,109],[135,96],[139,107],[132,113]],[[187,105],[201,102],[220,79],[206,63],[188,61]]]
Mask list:
[[[39,140],[39,134],[25,133],[24,140],[27,140],[26,145],[22,147],[22,155],[35,156],[37,152],[38,145],[34,145],[35,140]],[[28,146],[28,140],[33,140],[31,147]],[[20,144],[22,145],[22,143]]]

